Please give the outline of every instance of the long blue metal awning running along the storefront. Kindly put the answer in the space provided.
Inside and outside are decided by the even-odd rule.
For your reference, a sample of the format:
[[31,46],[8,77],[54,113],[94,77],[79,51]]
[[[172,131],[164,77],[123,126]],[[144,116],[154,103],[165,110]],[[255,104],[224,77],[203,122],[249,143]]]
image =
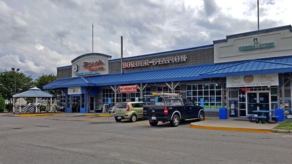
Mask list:
[[194,81],[207,78],[232,77],[250,74],[272,74],[292,72],[292,56],[270,59],[255,59],[221,64],[204,64],[199,66],[184,66],[180,68],[165,68],[125,72],[123,74],[106,74],[95,77],[76,77],[58,79],[44,86],[45,90],[78,87],[126,85],[135,83],[161,83],[171,81]]

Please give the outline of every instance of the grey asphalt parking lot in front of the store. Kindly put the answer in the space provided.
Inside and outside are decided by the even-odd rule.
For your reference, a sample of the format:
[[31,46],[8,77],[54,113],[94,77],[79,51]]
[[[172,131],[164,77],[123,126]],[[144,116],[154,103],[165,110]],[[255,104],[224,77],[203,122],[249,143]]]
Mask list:
[[291,163],[292,136],[112,117],[0,115],[0,163]]

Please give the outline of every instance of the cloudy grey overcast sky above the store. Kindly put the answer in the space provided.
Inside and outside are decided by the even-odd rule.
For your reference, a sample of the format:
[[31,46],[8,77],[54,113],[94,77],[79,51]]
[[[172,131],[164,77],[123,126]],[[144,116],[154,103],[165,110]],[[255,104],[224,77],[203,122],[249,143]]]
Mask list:
[[[291,0],[260,0],[260,29],[291,25]],[[119,58],[257,29],[256,0],[0,0],[0,70],[34,78],[92,51]]]

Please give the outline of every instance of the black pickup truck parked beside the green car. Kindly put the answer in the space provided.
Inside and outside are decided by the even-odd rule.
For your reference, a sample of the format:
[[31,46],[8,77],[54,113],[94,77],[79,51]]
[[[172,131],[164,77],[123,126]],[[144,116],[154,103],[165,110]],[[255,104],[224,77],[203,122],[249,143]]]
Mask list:
[[185,98],[165,98],[160,104],[143,107],[143,119],[149,120],[151,126],[156,126],[160,121],[178,126],[180,120],[193,118],[204,120],[204,108]]

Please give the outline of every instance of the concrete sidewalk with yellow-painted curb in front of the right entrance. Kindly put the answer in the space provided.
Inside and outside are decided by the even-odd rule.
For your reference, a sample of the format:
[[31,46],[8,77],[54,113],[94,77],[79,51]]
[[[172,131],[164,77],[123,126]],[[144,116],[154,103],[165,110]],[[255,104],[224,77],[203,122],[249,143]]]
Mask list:
[[208,118],[202,122],[191,123],[191,128],[203,128],[219,131],[245,131],[270,133],[271,129],[278,126],[276,123],[256,123],[249,122],[245,118],[228,118],[227,120],[220,120],[219,118]]

